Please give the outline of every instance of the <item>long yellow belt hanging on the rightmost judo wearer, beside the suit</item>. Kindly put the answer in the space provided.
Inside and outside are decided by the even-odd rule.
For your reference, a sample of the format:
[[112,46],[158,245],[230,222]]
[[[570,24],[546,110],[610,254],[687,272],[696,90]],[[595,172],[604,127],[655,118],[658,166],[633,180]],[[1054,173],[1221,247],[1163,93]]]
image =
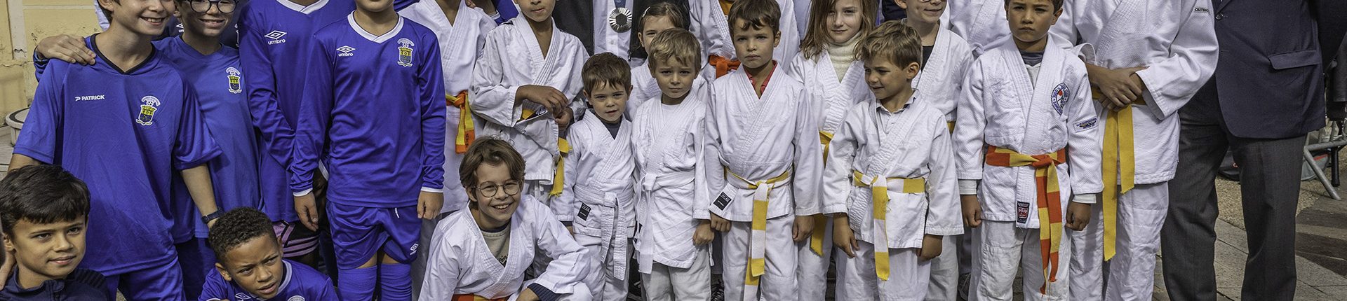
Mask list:
[[[1102,95],[1094,91],[1094,98]],[[1107,113],[1103,128],[1103,259],[1118,253],[1118,196],[1136,187],[1137,156],[1131,133],[1131,106],[1145,105],[1137,99],[1118,112]]]

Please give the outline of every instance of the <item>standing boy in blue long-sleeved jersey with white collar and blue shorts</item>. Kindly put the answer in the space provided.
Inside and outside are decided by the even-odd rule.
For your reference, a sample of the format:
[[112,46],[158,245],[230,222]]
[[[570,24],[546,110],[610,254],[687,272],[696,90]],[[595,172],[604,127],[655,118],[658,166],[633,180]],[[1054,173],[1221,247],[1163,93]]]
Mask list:
[[[420,220],[445,187],[445,82],[435,32],[404,20],[388,0],[319,28],[295,160],[306,184],[323,160],[327,214],[342,300],[411,300]],[[306,203],[313,194],[296,194]],[[377,266],[376,266],[377,265]]]

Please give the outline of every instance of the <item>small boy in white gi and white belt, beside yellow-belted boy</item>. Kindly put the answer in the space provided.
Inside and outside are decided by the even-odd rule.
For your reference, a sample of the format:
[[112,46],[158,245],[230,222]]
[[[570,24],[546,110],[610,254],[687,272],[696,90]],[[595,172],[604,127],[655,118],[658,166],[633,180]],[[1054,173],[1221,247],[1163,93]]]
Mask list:
[[[647,23],[649,24],[649,23]],[[645,300],[711,298],[710,194],[702,161],[707,94],[696,36],[667,30],[645,43],[660,94],[636,109],[637,266]]]

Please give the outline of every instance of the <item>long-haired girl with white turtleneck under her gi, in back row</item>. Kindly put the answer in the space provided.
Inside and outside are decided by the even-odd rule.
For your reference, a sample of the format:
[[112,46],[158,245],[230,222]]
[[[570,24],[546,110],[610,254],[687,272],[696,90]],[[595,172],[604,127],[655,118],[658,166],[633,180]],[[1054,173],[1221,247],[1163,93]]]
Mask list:
[[[855,59],[855,46],[874,28],[880,4],[869,0],[822,0],[812,5],[810,30],[800,42],[800,54],[791,63],[791,75],[811,87],[818,99],[819,142],[828,155],[828,141],[842,126],[851,105],[872,98],[865,82],[865,66]],[[824,161],[827,159],[824,157]],[[816,231],[799,250],[796,280],[800,301],[823,300],[828,266],[832,262],[832,222],[814,215]]]

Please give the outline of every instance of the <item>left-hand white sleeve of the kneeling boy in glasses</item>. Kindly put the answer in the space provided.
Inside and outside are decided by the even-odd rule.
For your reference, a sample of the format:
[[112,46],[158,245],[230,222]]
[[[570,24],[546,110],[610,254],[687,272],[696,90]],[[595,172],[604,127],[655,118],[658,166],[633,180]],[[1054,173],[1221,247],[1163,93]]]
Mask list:
[[[438,228],[438,227],[436,227]],[[471,230],[465,230],[471,231]],[[458,290],[458,274],[462,273],[462,263],[458,257],[467,257],[474,250],[465,250],[447,242],[453,231],[435,231],[426,261],[426,277],[422,282],[420,300],[451,300]],[[457,234],[467,235],[467,234]]]

